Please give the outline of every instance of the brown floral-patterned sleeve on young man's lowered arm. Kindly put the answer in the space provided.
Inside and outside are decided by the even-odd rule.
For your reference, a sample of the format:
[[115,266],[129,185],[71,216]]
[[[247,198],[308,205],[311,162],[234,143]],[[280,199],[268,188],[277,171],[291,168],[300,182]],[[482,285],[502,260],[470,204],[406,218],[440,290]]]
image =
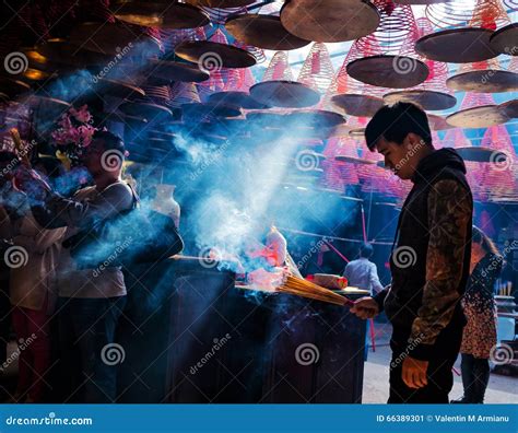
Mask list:
[[411,333],[411,340],[417,343],[413,350],[415,358],[428,358],[432,344],[451,320],[460,301],[458,288],[472,212],[471,194],[460,183],[439,180],[431,188],[426,284]]

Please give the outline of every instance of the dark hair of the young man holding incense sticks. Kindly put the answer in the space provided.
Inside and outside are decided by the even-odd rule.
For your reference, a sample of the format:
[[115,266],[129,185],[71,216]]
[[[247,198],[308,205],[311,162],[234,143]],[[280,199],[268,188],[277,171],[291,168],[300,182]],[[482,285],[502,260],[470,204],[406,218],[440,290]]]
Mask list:
[[426,144],[432,145],[432,132],[426,113],[415,104],[399,102],[386,105],[376,112],[365,128],[365,140],[367,148],[374,151],[379,139],[402,144],[410,132],[420,136]]

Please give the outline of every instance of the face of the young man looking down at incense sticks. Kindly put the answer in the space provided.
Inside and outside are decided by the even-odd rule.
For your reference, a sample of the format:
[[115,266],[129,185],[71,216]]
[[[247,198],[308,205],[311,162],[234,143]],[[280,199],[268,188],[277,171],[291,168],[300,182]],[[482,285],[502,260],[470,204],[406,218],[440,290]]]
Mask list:
[[417,136],[409,133],[401,144],[380,138],[376,150],[385,157],[385,166],[399,178],[412,178],[419,162],[420,148],[424,144]]

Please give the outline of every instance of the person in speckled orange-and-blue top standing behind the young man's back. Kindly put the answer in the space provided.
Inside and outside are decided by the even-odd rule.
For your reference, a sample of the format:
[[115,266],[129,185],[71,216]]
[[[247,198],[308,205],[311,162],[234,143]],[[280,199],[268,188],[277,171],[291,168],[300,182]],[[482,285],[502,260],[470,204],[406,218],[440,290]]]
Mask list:
[[473,226],[470,279],[462,299],[468,319],[460,347],[464,395],[452,403],[483,403],[490,382],[490,354],[496,340],[495,282],[503,257],[493,241]]

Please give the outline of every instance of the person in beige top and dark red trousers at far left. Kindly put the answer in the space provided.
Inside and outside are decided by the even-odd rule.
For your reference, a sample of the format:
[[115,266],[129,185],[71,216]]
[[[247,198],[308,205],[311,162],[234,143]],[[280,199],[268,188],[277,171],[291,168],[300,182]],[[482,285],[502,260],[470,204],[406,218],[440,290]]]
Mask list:
[[[62,173],[58,160],[39,160],[35,167],[51,180]],[[50,366],[50,317],[56,306],[55,274],[64,227],[42,229],[31,210],[12,222],[13,254],[22,266],[13,266],[10,276],[12,320],[16,341],[23,344],[19,356],[19,381],[13,402],[40,402],[45,377]]]

